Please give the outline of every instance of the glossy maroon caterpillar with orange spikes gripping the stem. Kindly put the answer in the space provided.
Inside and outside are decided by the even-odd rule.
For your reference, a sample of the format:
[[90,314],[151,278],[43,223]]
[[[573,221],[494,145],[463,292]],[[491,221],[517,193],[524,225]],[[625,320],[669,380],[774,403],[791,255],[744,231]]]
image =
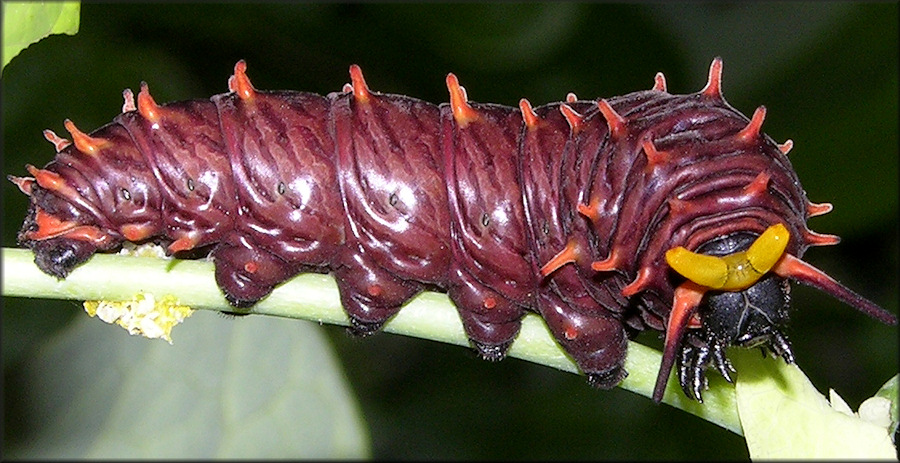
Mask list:
[[351,332],[377,331],[423,290],[447,292],[472,347],[502,359],[538,313],[588,382],[616,386],[627,341],[664,333],[653,400],[673,369],[702,402],[732,381],[729,346],[794,361],[790,280],[884,323],[896,317],[801,260],[837,244],[787,154],[706,85],[518,107],[449,103],[350,83],[322,96],[257,90],[238,61],[229,92],[157,104],[146,83],[93,132],[50,130],[56,158],[28,177],[20,245],[65,278],[96,252],[155,240],[208,255],[235,308],[302,272],[332,273]]

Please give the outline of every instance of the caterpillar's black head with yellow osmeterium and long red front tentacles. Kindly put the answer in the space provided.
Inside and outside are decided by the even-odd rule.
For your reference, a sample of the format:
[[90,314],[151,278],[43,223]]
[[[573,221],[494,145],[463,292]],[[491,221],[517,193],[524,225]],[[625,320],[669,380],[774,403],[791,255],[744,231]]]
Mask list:
[[675,290],[662,366],[653,399],[662,400],[674,364],[688,397],[702,401],[704,372],[714,366],[729,382],[729,346],[760,347],[794,361],[783,333],[789,321],[789,279],[813,286],[882,322],[897,319],[822,271],[786,253],[787,228],[775,224],[762,234],[738,232],[708,241],[696,252],[677,247],[669,266],[687,281]]

